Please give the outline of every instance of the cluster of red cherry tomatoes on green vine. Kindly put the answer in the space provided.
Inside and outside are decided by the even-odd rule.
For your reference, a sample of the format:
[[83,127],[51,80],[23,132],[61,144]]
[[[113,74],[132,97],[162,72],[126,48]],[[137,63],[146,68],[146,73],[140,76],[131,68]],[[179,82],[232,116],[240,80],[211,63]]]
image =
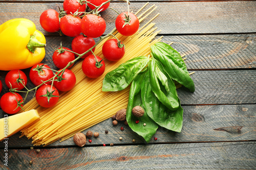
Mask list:
[[[5,93],[0,100],[4,112],[17,113],[22,109],[28,92],[32,90],[36,90],[35,97],[40,106],[49,108],[56,105],[59,99],[58,90],[69,91],[75,86],[76,77],[68,68],[71,68],[79,58],[83,59],[82,71],[87,77],[98,78],[103,74],[105,64],[100,57],[93,53],[97,45],[93,38],[100,37],[105,32],[106,23],[99,12],[108,9],[111,1],[65,0],[63,10],[60,12],[53,9],[42,12],[40,15],[41,27],[48,32],[60,32],[74,37],[71,43],[72,50],[62,46],[55,50],[52,59],[55,66],[59,68],[58,71],[51,69],[47,64],[34,65],[29,72],[30,80],[36,86],[33,89],[26,87],[27,76],[22,70],[9,71],[5,83],[10,88],[10,92]],[[87,6],[91,11],[86,12]],[[131,36],[138,31],[139,20],[131,12],[122,12],[117,16],[115,26],[120,34]],[[111,35],[108,34],[108,36]],[[113,39],[104,42],[102,54],[110,61],[117,61],[124,56],[125,47],[114,35],[112,36]],[[26,88],[27,91],[20,91],[23,88]],[[0,81],[0,92],[1,90],[2,82]],[[17,92],[26,92],[26,97],[23,99]]]

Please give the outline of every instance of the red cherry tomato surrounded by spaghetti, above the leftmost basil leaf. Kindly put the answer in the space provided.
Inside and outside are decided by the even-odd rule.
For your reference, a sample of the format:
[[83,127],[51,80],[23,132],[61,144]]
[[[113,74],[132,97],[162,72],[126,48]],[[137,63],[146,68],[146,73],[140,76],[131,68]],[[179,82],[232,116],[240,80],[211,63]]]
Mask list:
[[124,45],[122,42],[118,42],[117,39],[109,39],[102,46],[103,56],[110,61],[120,60],[124,53]]

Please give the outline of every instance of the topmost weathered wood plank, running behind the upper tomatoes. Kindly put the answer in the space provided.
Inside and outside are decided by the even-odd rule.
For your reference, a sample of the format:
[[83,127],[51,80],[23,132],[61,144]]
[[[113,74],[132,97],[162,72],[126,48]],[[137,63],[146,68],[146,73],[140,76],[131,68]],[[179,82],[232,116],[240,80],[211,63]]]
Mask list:
[[[137,11],[145,3],[132,3],[131,10]],[[161,34],[209,34],[209,33],[248,33],[256,30],[256,2],[173,2],[150,3],[158,8],[148,19],[160,12],[154,20]],[[1,3],[0,23],[12,18],[31,19],[39,31],[45,35],[57,35],[45,32],[39,23],[40,14],[46,9],[62,7],[61,3]],[[26,7],[26,8],[24,8]],[[124,3],[111,3],[118,11],[126,11]],[[28,11],[28,9],[30,9]],[[110,9],[101,16],[108,23],[105,33],[114,28],[116,13]]]

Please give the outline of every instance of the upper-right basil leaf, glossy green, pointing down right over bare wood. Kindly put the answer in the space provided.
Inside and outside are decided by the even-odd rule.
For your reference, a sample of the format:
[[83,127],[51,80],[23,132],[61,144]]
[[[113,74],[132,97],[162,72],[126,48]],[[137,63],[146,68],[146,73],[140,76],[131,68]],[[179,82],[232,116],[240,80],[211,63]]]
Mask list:
[[163,64],[172,79],[184,85],[191,92],[195,91],[195,84],[189,76],[186,64],[174,48],[163,42],[157,42],[151,46],[151,52],[154,58]]

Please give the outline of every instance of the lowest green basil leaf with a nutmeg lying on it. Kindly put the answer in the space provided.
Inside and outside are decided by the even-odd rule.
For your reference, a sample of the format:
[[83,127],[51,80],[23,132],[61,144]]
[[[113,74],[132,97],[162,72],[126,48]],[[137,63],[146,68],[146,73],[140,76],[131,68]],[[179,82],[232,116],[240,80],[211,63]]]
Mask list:
[[[156,133],[158,125],[147,115],[145,108],[142,105],[140,86],[144,78],[145,71],[141,72],[138,77],[132,82],[129,102],[126,108],[126,120],[129,127],[136,132],[138,135],[142,136],[146,142],[149,142],[152,136]],[[141,117],[135,117],[132,114],[132,109],[135,106],[141,106],[144,109],[144,115]],[[136,120],[139,120],[139,123],[136,124]],[[143,124],[146,126],[143,126]]]

